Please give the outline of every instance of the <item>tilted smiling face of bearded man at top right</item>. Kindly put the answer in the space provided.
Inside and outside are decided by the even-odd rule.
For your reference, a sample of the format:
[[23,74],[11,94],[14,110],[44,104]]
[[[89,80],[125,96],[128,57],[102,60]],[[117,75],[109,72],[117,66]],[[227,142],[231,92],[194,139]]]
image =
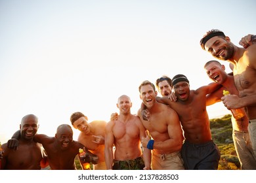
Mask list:
[[221,60],[231,59],[234,54],[234,46],[230,39],[215,36],[205,42],[205,50],[213,57]]

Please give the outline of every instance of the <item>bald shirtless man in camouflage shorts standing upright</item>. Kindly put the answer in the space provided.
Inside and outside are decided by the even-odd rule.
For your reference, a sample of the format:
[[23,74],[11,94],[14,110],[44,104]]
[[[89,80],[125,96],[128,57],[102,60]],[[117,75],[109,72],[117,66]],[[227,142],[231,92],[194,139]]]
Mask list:
[[131,114],[132,103],[127,95],[121,95],[116,105],[119,108],[118,119],[110,120],[106,125],[105,157],[107,169],[149,170],[150,150],[144,148],[142,152],[140,146],[140,141],[146,137],[146,129],[139,117]]

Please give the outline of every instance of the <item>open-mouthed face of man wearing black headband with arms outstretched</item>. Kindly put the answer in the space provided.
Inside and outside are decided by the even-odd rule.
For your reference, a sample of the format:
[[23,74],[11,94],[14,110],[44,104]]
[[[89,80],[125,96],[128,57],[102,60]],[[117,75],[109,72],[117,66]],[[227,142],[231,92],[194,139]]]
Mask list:
[[177,82],[175,86],[173,86],[175,95],[181,101],[186,101],[190,94],[189,84],[186,81]]

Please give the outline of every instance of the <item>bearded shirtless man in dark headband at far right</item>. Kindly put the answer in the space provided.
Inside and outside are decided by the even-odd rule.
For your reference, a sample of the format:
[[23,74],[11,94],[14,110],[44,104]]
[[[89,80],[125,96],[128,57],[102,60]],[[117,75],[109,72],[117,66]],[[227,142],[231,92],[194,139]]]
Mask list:
[[232,64],[238,95],[225,95],[222,100],[228,109],[245,107],[249,117],[249,135],[256,155],[256,45],[240,48],[218,29],[208,31],[200,44],[213,57]]

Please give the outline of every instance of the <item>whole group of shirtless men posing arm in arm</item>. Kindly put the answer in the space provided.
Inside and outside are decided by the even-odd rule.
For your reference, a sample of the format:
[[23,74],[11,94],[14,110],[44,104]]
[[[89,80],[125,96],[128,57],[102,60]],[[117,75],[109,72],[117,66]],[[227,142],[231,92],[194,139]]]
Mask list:
[[[162,97],[158,97],[154,84],[145,80],[139,86],[142,107],[136,115],[131,114],[127,95],[118,98],[119,114],[108,123],[89,123],[83,113],[72,114],[73,127],[81,131],[77,141],[73,141],[70,125],[65,124],[58,127],[55,137],[37,135],[37,117],[25,116],[14,135],[16,140],[3,144],[1,169],[41,169],[47,163],[51,169],[75,169],[79,148],[85,148],[88,154],[80,162],[92,162],[93,169],[218,169],[220,153],[211,137],[206,107],[219,101],[228,109],[245,108],[246,116],[232,118],[233,141],[242,169],[256,169],[253,43],[255,39],[247,35],[240,41],[244,48],[239,48],[222,31],[208,31],[200,45],[213,57],[229,61],[232,74],[226,73],[219,61],[208,61],[204,68],[213,82],[197,90],[190,90],[185,75],[172,79],[162,76],[156,80]],[[223,90],[230,95],[223,96]],[[18,150],[7,146],[18,146]],[[28,152],[33,152],[34,158],[29,158]]]

